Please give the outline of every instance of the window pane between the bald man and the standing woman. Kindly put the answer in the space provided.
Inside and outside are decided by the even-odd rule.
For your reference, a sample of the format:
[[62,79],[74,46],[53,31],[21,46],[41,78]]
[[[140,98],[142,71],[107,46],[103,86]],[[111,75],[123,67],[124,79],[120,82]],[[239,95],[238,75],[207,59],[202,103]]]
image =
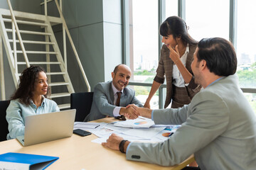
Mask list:
[[[152,83],[159,60],[158,1],[130,0],[129,3],[129,63],[132,79],[139,83]],[[131,86],[142,103],[149,95],[150,87]],[[151,106],[159,105],[154,96]],[[155,107],[154,107],[155,108]]]

